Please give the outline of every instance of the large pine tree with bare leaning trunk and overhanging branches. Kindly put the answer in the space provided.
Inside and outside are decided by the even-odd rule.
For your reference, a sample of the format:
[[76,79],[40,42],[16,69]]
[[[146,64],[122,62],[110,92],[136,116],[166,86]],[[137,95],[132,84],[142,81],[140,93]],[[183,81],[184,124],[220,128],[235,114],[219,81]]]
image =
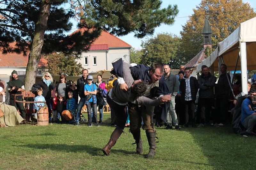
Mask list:
[[[0,1],[0,47],[5,53],[28,53],[25,89],[31,89],[41,53],[86,51],[101,30],[142,38],[161,24],[173,24],[177,5],[160,9],[161,0],[4,0]],[[67,7],[64,9],[64,7]],[[77,17],[84,32],[65,36]],[[9,43],[16,41],[15,47]],[[85,48],[87,47],[87,48]]]

